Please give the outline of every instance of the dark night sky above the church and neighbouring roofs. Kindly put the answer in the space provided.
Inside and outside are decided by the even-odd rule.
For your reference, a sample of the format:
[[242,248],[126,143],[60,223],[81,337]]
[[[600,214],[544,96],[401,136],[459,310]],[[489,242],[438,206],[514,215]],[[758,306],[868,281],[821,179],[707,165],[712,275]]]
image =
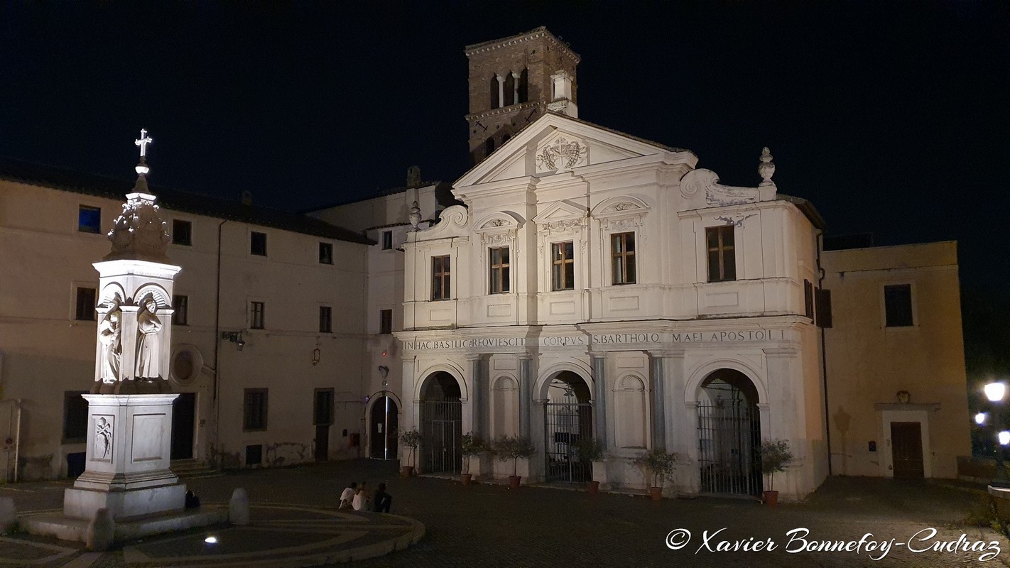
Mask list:
[[[0,154],[305,209],[469,167],[464,45],[545,25],[580,117],[689,148],[833,234],[956,239],[1006,294],[1008,2],[16,2],[0,5]],[[993,251],[996,252],[993,252]]]

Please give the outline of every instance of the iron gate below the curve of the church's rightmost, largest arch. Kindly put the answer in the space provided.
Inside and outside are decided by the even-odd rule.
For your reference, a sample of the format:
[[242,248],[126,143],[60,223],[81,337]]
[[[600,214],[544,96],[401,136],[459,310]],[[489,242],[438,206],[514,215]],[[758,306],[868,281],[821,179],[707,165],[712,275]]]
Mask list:
[[761,417],[746,401],[698,405],[698,463],[704,493],[760,495]]

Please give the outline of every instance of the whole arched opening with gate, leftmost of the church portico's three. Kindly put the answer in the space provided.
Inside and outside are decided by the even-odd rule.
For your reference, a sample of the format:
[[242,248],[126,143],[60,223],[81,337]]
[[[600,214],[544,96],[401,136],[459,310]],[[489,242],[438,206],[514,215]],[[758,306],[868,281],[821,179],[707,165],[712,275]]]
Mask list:
[[462,465],[463,403],[460,383],[445,371],[424,379],[421,388],[421,455],[427,473],[458,473]]

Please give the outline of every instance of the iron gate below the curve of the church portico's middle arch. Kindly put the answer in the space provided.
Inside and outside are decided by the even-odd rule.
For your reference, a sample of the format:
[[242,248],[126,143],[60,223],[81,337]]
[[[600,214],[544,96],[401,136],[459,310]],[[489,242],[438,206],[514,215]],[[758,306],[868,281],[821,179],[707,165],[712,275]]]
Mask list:
[[579,461],[576,444],[593,437],[593,405],[589,403],[547,403],[543,405],[547,460],[546,480],[589,481],[593,463]]

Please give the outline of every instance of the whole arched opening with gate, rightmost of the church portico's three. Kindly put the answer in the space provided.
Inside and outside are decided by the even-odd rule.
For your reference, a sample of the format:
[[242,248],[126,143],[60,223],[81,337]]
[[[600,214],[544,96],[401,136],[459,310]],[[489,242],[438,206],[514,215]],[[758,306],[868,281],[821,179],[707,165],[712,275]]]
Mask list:
[[738,370],[713,371],[698,387],[701,492],[760,495],[760,449],[758,388]]

